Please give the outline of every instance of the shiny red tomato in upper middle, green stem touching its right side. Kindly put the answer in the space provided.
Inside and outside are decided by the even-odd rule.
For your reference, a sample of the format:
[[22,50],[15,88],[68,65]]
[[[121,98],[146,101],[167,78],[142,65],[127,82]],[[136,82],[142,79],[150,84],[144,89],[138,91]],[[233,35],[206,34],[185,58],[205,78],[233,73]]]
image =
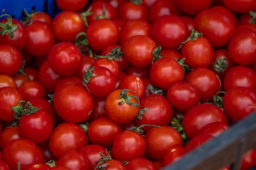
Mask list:
[[153,51],[157,47],[155,41],[145,35],[135,35],[125,41],[124,57],[136,67],[146,67],[152,63]]

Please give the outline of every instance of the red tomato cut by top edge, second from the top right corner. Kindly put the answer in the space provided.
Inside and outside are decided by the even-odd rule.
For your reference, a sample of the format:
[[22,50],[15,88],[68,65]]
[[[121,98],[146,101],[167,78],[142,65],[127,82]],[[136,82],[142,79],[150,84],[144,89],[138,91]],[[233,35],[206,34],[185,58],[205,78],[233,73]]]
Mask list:
[[197,15],[198,13],[208,9],[213,0],[199,0],[199,1],[189,1],[189,0],[176,0],[179,8],[188,15]]

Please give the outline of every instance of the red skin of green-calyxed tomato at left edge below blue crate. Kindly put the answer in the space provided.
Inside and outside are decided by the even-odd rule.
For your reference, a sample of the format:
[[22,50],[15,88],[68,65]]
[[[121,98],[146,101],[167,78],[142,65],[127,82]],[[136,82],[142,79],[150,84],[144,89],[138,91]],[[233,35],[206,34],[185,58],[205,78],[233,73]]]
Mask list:
[[[15,18],[11,18],[12,20],[12,25],[16,25],[17,29],[13,32],[13,38],[8,36],[8,34],[4,34],[0,36],[0,44],[9,44],[16,48],[18,51],[23,50],[26,41],[27,41],[27,36],[28,32],[26,27],[20,22],[19,20]],[[6,23],[7,18],[1,19],[1,23]],[[0,29],[0,31],[2,28]]]

